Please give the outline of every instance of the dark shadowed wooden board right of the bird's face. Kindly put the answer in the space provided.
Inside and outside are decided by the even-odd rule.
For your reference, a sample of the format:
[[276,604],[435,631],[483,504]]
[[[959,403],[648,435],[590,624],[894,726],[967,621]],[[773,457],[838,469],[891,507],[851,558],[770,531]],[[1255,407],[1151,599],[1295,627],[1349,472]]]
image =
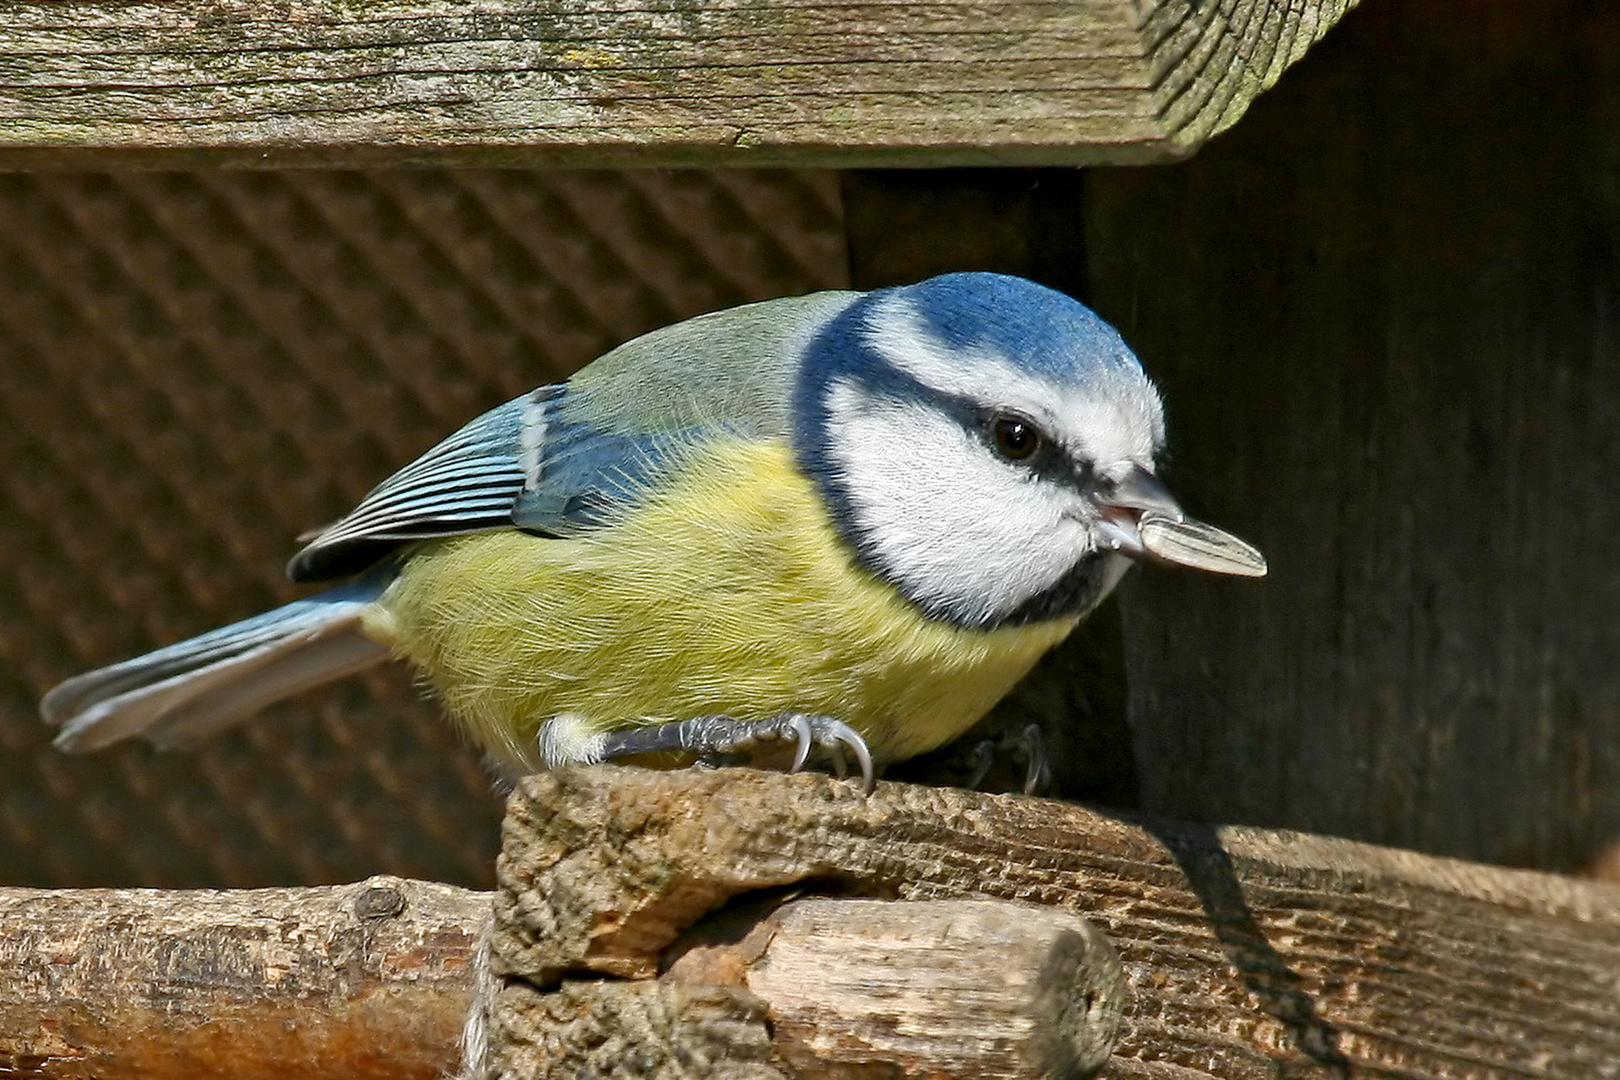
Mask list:
[[[1254,588],[1123,589],[1142,808],[1578,871],[1620,840],[1620,13],[1366,3],[1089,296]],[[1443,76],[1440,74],[1443,73]]]

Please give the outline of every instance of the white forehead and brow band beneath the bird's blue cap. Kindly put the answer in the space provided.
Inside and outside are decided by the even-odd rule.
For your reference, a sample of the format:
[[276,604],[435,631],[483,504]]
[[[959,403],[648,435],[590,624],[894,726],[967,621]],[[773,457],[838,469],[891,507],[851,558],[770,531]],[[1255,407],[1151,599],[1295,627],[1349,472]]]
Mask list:
[[1124,366],[1076,358],[1066,369],[1072,377],[1055,377],[988,345],[949,345],[904,296],[873,304],[862,340],[922,385],[985,408],[1024,413],[1071,453],[1100,465],[1149,465],[1165,442],[1163,403],[1134,361]]

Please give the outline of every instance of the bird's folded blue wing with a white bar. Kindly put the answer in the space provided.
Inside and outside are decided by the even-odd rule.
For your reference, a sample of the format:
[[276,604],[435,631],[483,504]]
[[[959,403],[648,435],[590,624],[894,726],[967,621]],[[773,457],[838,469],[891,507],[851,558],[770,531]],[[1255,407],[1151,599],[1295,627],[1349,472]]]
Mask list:
[[295,581],[358,573],[411,541],[499,528],[561,536],[609,520],[698,431],[604,432],[567,416],[565,385],[473,419],[377,484],[287,565]]

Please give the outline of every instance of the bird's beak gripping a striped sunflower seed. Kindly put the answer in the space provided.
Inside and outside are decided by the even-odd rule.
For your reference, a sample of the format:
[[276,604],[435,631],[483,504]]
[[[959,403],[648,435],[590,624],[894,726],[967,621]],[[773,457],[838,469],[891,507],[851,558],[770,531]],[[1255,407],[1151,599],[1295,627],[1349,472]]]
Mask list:
[[1097,533],[1121,555],[1239,578],[1265,576],[1265,555],[1225,529],[1189,518],[1144,468],[1132,468],[1100,504]]

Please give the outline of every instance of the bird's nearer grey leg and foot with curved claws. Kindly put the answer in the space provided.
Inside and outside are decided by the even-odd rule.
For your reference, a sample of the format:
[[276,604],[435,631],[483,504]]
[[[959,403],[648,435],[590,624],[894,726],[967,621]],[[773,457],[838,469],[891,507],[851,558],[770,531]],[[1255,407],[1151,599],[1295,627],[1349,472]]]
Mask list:
[[650,724],[608,732],[601,737],[598,753],[603,761],[633,758],[654,753],[697,755],[703,764],[723,764],[734,758],[750,759],[761,751],[782,746],[792,740],[794,758],[787,772],[799,772],[810,759],[812,750],[825,750],[839,779],[849,774],[844,758],[847,750],[860,764],[860,779],[867,790],[876,785],[872,751],[867,740],[849,724],[815,712],[781,712],[763,721],[737,721],[729,716],[695,716],[688,721]]

